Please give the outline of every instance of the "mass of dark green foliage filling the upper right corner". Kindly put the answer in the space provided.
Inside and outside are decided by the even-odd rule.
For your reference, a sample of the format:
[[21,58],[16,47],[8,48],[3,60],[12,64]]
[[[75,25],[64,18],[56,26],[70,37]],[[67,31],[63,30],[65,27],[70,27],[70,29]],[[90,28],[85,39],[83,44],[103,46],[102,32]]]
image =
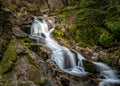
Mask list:
[[81,0],[77,27],[80,40],[88,45],[110,48],[120,41],[120,2]]

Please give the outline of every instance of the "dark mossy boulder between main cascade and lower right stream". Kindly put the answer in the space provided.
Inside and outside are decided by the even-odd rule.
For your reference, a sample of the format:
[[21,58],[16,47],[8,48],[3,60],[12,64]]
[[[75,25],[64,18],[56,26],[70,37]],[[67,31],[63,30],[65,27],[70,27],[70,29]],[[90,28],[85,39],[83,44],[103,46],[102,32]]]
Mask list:
[[83,60],[83,66],[85,68],[85,71],[93,73],[93,74],[97,73],[95,64],[93,64],[92,62],[87,61],[87,60]]

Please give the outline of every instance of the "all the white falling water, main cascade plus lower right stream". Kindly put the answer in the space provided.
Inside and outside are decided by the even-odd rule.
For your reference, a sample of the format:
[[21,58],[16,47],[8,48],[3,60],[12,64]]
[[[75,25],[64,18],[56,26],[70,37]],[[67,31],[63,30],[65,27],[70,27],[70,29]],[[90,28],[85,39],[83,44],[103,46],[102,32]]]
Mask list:
[[[75,54],[73,54],[73,52],[71,52],[68,48],[59,45],[55,40],[53,40],[51,38],[53,30],[54,28],[50,30],[48,29],[48,25],[45,20],[35,17],[31,26],[31,35],[45,40],[44,45],[52,52],[50,59],[54,60],[63,71],[76,76],[87,74],[82,63],[82,60],[85,58],[77,51],[74,51],[77,54],[76,57]],[[96,65],[100,75],[105,78],[99,83],[99,86],[120,84],[120,80],[117,78],[115,71],[109,66],[98,62],[93,63]]]

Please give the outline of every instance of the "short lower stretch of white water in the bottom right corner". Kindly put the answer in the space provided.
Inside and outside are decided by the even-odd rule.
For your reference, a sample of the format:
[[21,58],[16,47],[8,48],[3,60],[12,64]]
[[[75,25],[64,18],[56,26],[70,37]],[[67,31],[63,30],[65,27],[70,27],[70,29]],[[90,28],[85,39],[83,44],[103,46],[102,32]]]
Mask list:
[[100,75],[105,78],[102,80],[102,82],[99,83],[99,86],[113,86],[114,84],[120,84],[120,80],[117,77],[116,70],[111,69],[111,67],[101,62],[93,63],[96,65],[97,71],[100,72]]

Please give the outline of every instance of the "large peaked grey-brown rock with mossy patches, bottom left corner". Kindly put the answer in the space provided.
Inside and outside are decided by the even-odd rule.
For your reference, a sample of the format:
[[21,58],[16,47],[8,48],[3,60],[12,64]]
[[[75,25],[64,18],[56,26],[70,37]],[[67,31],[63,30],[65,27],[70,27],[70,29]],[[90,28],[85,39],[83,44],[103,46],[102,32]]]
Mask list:
[[[4,56],[4,59],[2,60],[1,63],[2,66],[0,66],[1,69],[0,85],[1,86],[44,85],[47,79],[44,76],[44,74],[46,73],[45,70],[46,66],[44,62],[42,62],[40,58],[36,58],[37,55],[27,50],[24,46],[15,42],[14,44],[12,44],[11,46],[16,47],[17,50],[15,51],[17,52],[15,53],[15,51],[11,52],[9,51],[8,53],[10,53],[12,56],[15,54],[16,55],[14,57],[15,60],[9,54],[8,54],[9,57]],[[5,66],[3,66],[5,64],[3,63],[4,61],[6,61]],[[43,65],[43,67],[39,66],[39,62],[41,62],[41,66]]]

